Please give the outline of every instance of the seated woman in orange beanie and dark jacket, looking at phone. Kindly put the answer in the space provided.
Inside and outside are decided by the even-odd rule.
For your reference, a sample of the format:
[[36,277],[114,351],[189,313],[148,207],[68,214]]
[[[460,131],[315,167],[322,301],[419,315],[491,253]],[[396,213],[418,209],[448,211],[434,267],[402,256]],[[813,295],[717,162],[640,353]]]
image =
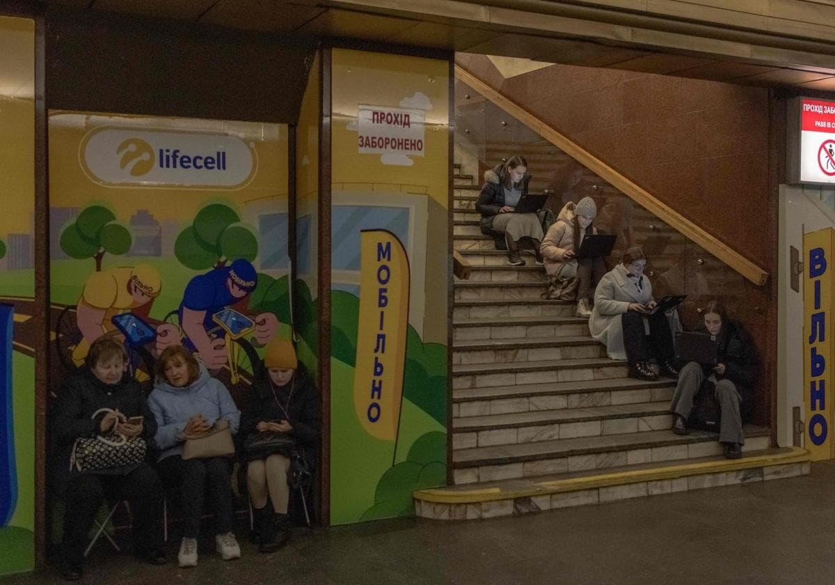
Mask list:
[[[240,437],[258,433],[290,435],[311,465],[319,441],[319,397],[306,372],[299,369],[296,349],[288,339],[267,343],[261,376],[252,385],[248,407],[240,420]],[[292,448],[291,448],[292,449]],[[243,455],[246,457],[247,454]],[[274,552],[290,537],[287,505],[290,490],[286,451],[249,460],[246,486],[256,521],[260,552]]]

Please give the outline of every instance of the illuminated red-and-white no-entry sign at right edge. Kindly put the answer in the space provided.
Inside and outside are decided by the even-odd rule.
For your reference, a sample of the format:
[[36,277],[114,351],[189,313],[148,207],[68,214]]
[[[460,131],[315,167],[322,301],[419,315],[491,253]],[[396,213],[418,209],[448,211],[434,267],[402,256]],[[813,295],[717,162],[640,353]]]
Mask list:
[[835,183],[835,102],[801,100],[800,181]]

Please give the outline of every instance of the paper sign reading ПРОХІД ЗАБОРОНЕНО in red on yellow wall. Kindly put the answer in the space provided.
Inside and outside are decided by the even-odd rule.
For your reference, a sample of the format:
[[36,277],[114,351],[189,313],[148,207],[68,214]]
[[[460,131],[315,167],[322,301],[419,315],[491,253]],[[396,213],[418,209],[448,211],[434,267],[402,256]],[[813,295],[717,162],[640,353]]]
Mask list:
[[423,156],[424,113],[420,109],[357,106],[362,155]]

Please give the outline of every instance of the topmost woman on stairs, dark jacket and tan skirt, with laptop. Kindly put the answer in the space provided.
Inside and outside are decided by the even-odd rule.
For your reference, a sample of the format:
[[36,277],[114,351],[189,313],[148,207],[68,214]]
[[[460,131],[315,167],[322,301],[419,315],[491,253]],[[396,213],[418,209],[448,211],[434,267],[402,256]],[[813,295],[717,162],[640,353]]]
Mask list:
[[497,248],[504,237],[508,263],[512,266],[525,264],[519,257],[519,245],[523,242],[534,250],[537,262],[542,262],[539,242],[543,231],[539,218],[535,213],[514,213],[519,199],[528,192],[529,182],[528,161],[521,155],[512,156],[484,173],[484,185],[475,205],[481,214],[482,233],[497,238]]

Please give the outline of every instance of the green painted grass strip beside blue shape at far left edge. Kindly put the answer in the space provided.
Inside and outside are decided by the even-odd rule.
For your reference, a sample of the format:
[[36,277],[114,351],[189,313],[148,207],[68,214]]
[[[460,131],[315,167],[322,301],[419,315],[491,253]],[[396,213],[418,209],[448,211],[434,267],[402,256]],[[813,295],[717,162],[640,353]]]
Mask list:
[[35,360],[12,354],[14,456],[18,473],[18,505],[9,525],[34,530],[35,524]]

